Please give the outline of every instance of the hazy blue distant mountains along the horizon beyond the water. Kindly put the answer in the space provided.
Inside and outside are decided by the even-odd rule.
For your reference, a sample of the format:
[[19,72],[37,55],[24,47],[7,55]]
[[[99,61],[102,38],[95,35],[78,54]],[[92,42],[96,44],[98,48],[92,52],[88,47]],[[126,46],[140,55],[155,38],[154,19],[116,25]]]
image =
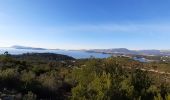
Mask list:
[[[27,46],[19,46],[14,45],[11,48],[15,49],[30,49],[30,50],[52,50],[45,48],[37,48],[37,47],[27,47]],[[60,49],[53,49],[60,50]],[[77,51],[77,50],[75,50]],[[85,51],[90,53],[104,53],[104,54],[131,54],[131,55],[161,55],[161,56],[170,56],[170,50],[129,50],[127,48],[114,48],[114,49],[90,49],[90,50],[78,50]]]

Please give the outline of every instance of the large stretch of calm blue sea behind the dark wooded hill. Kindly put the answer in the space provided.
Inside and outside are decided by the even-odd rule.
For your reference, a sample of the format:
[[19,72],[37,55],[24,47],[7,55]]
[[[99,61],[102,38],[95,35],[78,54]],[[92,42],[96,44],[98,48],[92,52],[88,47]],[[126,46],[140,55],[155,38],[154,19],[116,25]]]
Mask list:
[[23,54],[23,53],[56,53],[72,56],[74,58],[89,58],[93,56],[95,58],[107,58],[110,54],[102,53],[89,53],[85,51],[68,51],[68,50],[29,50],[29,49],[14,49],[14,48],[0,48],[0,54],[8,51],[10,54]]

